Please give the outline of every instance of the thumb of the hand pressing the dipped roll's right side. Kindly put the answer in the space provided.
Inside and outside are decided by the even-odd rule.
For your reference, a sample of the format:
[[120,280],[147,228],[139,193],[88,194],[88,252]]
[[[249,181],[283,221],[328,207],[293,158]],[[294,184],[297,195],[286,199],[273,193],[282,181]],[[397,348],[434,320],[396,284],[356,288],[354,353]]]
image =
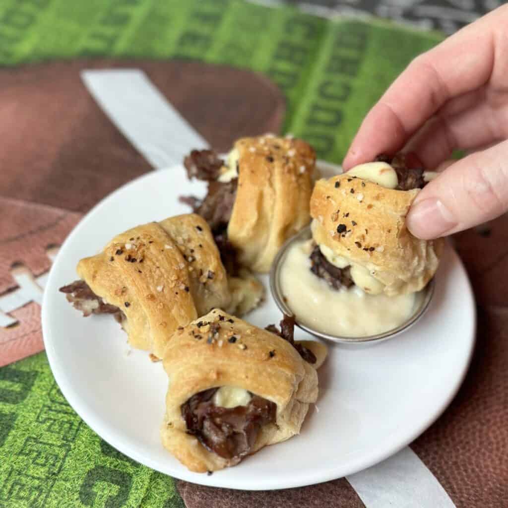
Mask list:
[[508,141],[448,167],[416,197],[406,224],[424,240],[491,220],[508,210]]

